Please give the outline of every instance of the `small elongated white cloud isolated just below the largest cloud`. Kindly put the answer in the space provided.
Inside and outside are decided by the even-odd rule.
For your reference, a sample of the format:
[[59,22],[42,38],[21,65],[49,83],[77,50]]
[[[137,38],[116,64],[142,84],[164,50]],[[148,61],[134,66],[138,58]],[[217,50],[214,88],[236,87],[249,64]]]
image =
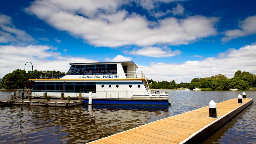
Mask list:
[[181,53],[179,50],[172,51],[170,48],[159,48],[159,47],[143,47],[142,49],[133,49],[129,52],[133,55],[143,55],[148,57],[172,57]]

